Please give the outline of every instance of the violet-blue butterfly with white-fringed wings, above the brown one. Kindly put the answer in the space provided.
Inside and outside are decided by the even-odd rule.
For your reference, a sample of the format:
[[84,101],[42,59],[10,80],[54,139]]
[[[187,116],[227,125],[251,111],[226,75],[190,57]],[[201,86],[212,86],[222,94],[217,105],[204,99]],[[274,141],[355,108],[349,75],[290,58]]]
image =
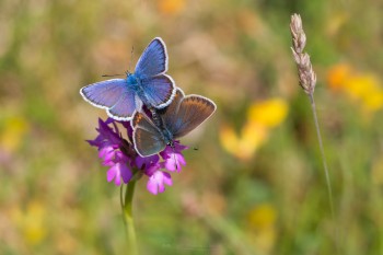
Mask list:
[[112,79],[84,86],[80,94],[92,105],[105,108],[117,120],[130,120],[135,111],[164,108],[175,95],[175,83],[165,74],[167,53],[164,42],[156,37],[143,50],[135,73],[126,79]]

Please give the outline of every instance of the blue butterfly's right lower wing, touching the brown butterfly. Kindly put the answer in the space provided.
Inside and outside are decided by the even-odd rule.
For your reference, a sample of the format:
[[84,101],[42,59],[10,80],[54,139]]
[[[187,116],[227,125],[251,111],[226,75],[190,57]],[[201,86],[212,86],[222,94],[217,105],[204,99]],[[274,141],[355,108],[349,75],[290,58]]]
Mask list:
[[144,94],[143,103],[155,108],[170,105],[175,95],[174,81],[166,74],[142,79],[141,88]]

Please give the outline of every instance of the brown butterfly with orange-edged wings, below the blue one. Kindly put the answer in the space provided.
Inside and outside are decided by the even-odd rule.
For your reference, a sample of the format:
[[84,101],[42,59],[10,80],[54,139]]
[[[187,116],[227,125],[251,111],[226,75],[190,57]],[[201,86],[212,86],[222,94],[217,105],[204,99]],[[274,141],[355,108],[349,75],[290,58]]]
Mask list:
[[173,140],[183,137],[208,119],[216,111],[216,104],[200,95],[187,95],[181,89],[172,104],[159,113],[161,125],[155,125],[147,114],[136,112],[131,127],[134,143],[141,157],[156,154]]

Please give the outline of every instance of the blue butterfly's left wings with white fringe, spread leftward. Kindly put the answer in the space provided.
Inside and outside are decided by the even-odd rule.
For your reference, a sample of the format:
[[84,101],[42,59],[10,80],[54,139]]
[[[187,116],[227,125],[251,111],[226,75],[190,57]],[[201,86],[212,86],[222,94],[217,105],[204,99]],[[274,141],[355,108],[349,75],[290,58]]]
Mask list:
[[84,86],[80,94],[92,105],[105,108],[112,118],[129,120],[138,107],[125,79],[112,79]]

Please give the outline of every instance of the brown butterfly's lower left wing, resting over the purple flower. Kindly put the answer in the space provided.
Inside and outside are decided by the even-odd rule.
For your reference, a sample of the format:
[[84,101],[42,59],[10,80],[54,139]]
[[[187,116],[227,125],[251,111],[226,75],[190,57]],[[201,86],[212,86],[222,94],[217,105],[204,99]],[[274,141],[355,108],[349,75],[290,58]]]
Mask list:
[[146,114],[136,112],[131,126],[135,149],[141,157],[153,155],[165,149],[166,143],[160,129]]

